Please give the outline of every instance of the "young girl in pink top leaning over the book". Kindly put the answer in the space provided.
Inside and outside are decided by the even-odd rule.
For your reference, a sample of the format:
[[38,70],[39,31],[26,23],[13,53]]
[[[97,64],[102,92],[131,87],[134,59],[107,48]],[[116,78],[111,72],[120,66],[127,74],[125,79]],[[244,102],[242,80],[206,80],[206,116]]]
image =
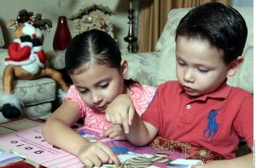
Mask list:
[[107,145],[89,142],[70,126],[82,117],[84,126],[100,129],[106,137],[123,140],[121,127],[105,119],[108,105],[120,94],[127,94],[134,103],[133,108],[142,115],[154,97],[154,87],[125,79],[128,63],[121,60],[116,42],[104,31],[85,31],[75,36],[67,47],[65,62],[73,86],[46,121],[45,140],[77,155],[85,165],[99,166],[107,162],[119,165],[117,156]]

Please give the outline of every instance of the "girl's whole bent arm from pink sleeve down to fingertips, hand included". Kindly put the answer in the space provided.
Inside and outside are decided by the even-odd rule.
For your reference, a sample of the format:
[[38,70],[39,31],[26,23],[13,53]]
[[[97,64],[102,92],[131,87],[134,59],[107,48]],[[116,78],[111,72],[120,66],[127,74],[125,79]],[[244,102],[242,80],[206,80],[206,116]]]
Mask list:
[[46,141],[68,153],[77,155],[85,165],[100,166],[102,163],[119,165],[119,159],[111,148],[102,142],[89,142],[70,127],[81,116],[77,104],[67,100],[55,110],[43,127]]

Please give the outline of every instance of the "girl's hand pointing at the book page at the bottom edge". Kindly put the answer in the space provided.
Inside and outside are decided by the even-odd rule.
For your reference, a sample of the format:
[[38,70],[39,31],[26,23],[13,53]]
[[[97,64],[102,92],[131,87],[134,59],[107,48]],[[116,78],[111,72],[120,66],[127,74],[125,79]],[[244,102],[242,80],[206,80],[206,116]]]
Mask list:
[[101,166],[104,163],[120,165],[119,159],[113,150],[102,142],[85,143],[79,150],[79,160],[87,166]]

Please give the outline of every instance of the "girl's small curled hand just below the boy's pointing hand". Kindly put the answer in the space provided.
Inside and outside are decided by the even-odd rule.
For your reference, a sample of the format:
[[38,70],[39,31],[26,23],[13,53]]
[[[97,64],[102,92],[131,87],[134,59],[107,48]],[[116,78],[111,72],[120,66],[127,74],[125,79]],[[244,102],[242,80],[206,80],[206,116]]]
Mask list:
[[125,132],[119,125],[113,125],[103,132],[105,137],[109,137],[114,140],[125,140]]

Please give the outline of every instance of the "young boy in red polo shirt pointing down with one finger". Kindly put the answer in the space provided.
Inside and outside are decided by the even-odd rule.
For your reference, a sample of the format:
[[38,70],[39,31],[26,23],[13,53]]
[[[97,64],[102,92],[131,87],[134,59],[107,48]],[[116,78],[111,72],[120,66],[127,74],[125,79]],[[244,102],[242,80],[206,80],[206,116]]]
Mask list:
[[245,20],[234,8],[206,3],[183,17],[175,40],[177,81],[161,84],[141,117],[120,95],[107,120],[123,125],[135,145],[151,142],[207,163],[196,167],[252,167],[252,153],[235,153],[241,139],[253,150],[253,96],[226,84],[243,61]]

